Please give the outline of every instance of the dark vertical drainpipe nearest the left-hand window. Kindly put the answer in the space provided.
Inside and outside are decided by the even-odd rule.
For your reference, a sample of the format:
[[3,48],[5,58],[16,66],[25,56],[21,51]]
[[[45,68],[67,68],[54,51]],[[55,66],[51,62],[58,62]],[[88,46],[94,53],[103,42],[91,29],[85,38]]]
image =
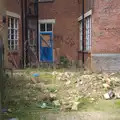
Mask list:
[[21,0],[21,17],[22,17],[22,68],[24,68],[24,10],[23,10],[23,0]]

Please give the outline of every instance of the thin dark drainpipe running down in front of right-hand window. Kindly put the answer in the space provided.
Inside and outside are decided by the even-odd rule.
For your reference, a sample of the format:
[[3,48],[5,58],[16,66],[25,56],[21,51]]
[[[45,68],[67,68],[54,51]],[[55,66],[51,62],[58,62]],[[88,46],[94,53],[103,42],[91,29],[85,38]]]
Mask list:
[[84,63],[85,63],[85,55],[84,55],[84,0],[82,0],[82,65],[84,68]]

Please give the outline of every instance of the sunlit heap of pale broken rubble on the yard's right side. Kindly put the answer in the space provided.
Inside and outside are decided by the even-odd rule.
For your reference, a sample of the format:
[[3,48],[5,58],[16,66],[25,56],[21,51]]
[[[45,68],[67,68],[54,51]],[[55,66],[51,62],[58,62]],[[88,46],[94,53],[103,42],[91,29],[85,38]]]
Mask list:
[[[66,109],[78,110],[80,99],[87,98],[89,102],[99,99],[120,99],[120,78],[114,74],[80,74],[80,73],[53,73],[56,80],[63,81],[64,97],[61,103]],[[117,90],[116,90],[117,88]]]

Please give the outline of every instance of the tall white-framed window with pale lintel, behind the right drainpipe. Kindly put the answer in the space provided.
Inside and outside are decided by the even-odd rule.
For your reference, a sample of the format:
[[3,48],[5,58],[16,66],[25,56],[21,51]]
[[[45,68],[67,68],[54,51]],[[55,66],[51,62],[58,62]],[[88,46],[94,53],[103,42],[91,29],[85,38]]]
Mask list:
[[[92,10],[88,11],[87,13],[84,14],[85,18],[85,51],[90,51],[91,50],[91,39],[92,39]],[[80,30],[80,51],[82,51],[82,16],[78,18],[78,21],[80,23],[79,30]]]

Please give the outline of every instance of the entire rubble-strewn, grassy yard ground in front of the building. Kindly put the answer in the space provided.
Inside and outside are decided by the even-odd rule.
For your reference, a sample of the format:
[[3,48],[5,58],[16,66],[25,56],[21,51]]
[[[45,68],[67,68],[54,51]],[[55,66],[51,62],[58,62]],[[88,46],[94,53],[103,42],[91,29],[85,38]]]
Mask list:
[[[120,120],[120,74],[27,69],[8,74],[4,120]],[[107,85],[107,86],[106,86]]]

